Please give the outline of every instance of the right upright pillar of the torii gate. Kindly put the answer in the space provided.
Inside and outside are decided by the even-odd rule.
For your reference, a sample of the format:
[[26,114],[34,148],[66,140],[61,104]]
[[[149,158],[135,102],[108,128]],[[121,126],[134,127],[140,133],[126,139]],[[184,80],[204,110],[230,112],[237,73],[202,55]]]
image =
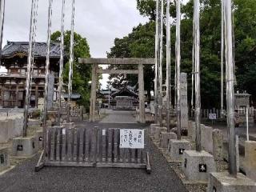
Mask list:
[[139,121],[145,123],[145,95],[143,65],[138,64]]

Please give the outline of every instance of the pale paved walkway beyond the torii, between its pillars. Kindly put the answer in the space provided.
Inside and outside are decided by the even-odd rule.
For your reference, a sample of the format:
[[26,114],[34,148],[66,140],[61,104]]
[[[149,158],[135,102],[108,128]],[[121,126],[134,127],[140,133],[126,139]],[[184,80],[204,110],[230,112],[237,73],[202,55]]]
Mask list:
[[108,115],[101,122],[104,123],[136,123],[133,110],[108,110]]

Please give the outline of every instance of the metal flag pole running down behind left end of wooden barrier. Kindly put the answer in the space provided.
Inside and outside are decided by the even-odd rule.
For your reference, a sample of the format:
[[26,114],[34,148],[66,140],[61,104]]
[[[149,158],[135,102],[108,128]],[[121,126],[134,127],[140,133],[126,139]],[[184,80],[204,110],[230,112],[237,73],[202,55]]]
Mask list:
[[[53,0],[49,0],[48,8],[48,30],[47,30],[47,54],[46,54],[46,78],[45,78],[45,96],[43,102],[43,114],[42,114],[42,125],[43,125],[43,146],[46,150],[46,122],[47,122],[47,104],[48,104],[48,83],[49,83],[49,67],[50,67],[50,35],[51,35],[51,18],[52,18],[52,4]],[[46,151],[45,151],[46,152]],[[47,154],[46,154],[47,156]]]

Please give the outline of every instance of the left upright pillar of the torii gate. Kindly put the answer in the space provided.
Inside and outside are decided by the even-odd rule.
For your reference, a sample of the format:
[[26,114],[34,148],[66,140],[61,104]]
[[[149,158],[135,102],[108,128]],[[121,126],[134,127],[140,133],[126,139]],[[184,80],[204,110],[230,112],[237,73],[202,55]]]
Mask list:
[[95,122],[95,106],[96,106],[96,89],[97,89],[97,67],[98,65],[94,64],[92,69],[91,77],[91,87],[90,87],[90,122]]

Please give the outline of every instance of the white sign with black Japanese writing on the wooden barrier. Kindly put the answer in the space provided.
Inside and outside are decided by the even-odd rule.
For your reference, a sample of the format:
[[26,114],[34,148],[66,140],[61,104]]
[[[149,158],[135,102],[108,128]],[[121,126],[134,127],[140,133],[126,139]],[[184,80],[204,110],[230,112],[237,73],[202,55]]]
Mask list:
[[120,130],[120,148],[144,149],[144,130]]

